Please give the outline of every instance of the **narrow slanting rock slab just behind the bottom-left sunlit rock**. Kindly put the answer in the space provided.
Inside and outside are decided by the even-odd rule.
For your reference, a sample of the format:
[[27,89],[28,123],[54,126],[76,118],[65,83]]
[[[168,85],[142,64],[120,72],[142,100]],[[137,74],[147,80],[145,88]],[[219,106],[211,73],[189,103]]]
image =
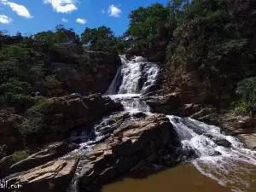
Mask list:
[[36,166],[43,165],[50,160],[61,157],[64,154],[79,148],[79,145],[68,143],[53,143],[39,151],[37,154],[28,156],[25,160],[21,160],[13,166],[10,166],[5,174],[26,171]]

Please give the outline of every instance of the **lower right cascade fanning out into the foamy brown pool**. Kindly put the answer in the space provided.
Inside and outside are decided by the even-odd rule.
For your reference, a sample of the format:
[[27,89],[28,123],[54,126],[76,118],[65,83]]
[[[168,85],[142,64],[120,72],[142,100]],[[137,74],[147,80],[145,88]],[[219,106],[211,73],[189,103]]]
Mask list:
[[[243,147],[236,137],[225,136],[220,128],[190,118],[167,116],[177,131],[183,148],[193,148],[198,158],[191,163],[201,174],[211,177],[233,191],[247,191],[255,175],[256,152]],[[231,143],[230,148],[216,141]]]

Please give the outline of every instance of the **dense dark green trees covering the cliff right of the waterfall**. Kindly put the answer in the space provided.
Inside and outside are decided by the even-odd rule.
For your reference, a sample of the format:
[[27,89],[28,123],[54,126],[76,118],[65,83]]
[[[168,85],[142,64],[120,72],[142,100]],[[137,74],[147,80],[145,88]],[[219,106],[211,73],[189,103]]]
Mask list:
[[255,11],[253,0],[172,0],[166,7],[155,3],[132,11],[126,33],[138,39],[132,45],[137,54],[166,63],[166,82],[173,79],[168,71],[184,68],[208,84],[208,98],[202,102],[241,100],[236,107],[246,103],[253,112],[255,100],[241,94],[253,92],[253,86],[237,83],[255,76]]

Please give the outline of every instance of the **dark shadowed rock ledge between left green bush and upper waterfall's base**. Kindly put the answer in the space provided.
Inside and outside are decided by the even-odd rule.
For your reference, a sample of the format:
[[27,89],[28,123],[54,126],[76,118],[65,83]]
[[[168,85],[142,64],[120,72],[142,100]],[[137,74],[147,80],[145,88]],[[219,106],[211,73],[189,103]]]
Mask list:
[[92,122],[123,108],[100,94],[90,96],[62,96],[49,99],[50,107],[44,112],[44,128],[27,135],[29,143],[51,143],[66,139],[72,131],[89,126]]

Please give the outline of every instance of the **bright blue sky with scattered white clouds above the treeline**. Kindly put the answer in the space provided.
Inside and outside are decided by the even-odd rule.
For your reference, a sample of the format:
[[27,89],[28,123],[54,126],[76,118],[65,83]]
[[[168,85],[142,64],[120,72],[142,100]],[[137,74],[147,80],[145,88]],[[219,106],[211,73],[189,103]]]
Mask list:
[[156,2],[168,0],[0,0],[0,30],[34,34],[63,24],[81,34],[85,27],[105,25],[121,35],[131,10]]

